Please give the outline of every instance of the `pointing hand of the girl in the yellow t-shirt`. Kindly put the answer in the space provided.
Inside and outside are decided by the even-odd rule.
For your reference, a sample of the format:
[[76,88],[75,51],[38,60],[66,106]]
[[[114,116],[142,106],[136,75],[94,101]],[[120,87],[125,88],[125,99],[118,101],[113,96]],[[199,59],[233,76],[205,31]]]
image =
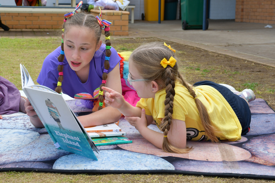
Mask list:
[[119,93],[111,88],[107,88],[105,86],[102,87],[103,90],[105,90],[105,100],[104,102],[108,104],[109,106],[119,109],[123,106],[125,103],[124,97]]

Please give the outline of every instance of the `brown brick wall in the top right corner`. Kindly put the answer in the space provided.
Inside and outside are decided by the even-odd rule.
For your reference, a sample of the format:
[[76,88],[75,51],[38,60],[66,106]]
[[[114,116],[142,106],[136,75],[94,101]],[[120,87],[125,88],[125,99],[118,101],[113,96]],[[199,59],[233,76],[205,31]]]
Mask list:
[[236,0],[235,21],[275,24],[275,1]]

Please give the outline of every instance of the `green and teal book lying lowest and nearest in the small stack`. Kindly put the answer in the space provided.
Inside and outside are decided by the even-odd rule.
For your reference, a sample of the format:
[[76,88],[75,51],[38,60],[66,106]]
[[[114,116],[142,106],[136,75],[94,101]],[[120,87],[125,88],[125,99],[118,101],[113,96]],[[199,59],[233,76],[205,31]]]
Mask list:
[[129,138],[124,136],[116,136],[116,137],[95,137],[92,138],[92,141],[96,146],[100,145],[113,145],[113,144],[128,144],[132,143]]

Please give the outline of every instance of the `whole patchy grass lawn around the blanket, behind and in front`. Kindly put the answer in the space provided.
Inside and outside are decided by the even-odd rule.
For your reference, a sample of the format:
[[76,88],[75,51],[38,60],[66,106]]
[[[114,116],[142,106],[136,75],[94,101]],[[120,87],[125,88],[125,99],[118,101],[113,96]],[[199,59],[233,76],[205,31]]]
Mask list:
[[[142,42],[156,39],[115,39],[112,47],[118,52],[133,51]],[[35,81],[45,57],[61,44],[61,38],[0,38],[0,76],[21,89],[20,63]],[[250,88],[257,98],[265,99],[275,109],[275,69],[245,60],[207,52],[176,43],[180,72],[191,84],[210,80],[232,85],[237,90]],[[36,81],[35,81],[36,83]],[[36,83],[37,84],[37,83]],[[204,177],[181,174],[55,174],[37,172],[0,172],[2,182],[274,182],[272,180]]]

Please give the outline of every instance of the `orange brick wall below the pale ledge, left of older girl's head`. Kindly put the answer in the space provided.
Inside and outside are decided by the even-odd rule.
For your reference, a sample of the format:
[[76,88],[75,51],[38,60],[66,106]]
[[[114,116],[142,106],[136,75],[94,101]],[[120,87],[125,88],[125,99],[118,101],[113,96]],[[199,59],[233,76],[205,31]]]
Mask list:
[[64,13],[1,13],[2,23],[10,29],[59,29]]

